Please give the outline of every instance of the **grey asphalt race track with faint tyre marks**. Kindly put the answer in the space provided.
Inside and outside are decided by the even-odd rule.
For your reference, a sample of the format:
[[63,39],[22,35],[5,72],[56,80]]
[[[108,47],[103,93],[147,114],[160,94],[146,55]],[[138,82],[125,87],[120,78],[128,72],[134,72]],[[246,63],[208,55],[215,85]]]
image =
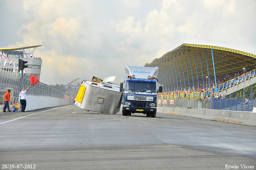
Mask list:
[[0,168],[8,165],[37,170],[256,169],[256,128],[161,113],[156,118],[100,114],[74,105],[0,112]]

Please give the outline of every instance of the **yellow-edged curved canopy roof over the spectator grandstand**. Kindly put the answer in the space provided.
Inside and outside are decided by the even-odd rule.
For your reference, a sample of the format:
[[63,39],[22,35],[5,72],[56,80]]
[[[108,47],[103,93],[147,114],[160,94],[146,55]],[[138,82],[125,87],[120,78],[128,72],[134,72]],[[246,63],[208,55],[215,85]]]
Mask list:
[[166,80],[167,85],[167,80],[170,82],[170,78],[175,75],[174,82],[182,83],[184,87],[184,81],[188,81],[188,78],[192,80],[193,77],[195,81],[197,78],[202,79],[208,75],[218,76],[241,72],[242,68],[255,69],[256,55],[218,46],[182,44],[161,58],[154,59],[150,64],[145,64],[145,67],[156,66],[159,67],[158,78],[163,77],[161,84]]

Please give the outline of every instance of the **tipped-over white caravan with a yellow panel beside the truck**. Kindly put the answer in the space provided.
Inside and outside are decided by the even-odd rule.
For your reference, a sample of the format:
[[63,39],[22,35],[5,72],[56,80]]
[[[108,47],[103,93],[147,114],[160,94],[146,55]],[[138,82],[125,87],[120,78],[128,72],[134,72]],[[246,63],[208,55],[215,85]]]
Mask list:
[[82,109],[94,112],[110,114],[119,112],[122,102],[120,86],[112,82],[105,82],[104,80],[103,82],[84,80],[74,104]]

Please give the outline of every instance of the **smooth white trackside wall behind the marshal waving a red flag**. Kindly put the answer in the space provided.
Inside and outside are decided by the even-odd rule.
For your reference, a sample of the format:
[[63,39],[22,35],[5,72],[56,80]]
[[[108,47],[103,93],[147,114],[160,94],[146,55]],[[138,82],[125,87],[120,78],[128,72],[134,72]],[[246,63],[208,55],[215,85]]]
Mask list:
[[[73,100],[27,96],[26,102],[27,102],[27,105],[26,105],[25,111],[29,111],[29,110],[36,110],[41,108],[68,105],[68,104],[72,104]],[[20,108],[21,106],[19,107],[19,109]]]

